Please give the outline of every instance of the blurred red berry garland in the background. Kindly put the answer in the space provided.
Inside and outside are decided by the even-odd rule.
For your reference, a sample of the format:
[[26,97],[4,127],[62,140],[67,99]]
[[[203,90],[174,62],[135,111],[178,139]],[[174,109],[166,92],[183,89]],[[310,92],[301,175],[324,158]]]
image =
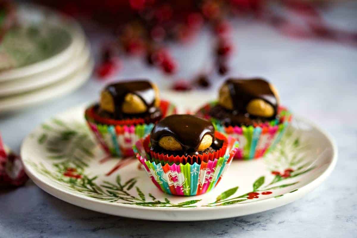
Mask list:
[[[164,58],[160,54],[157,55],[158,49],[161,49],[166,41],[187,42],[197,34],[203,24],[209,26],[213,42],[216,42],[213,43],[216,45],[212,46],[215,49],[212,55],[215,70],[219,75],[227,74],[229,56],[234,48],[229,41],[231,26],[227,19],[237,15],[255,16],[290,37],[323,39],[357,46],[355,32],[329,27],[316,5],[306,1],[280,1],[282,11],[271,9],[272,5],[276,7],[277,4],[269,4],[266,0],[119,0],[104,3],[93,1],[90,4],[86,0],[41,2],[47,2],[48,5],[58,7],[69,14],[86,15],[111,27],[116,32],[116,47],[119,49],[118,54],[111,57],[144,53],[148,65],[158,67],[165,74],[177,72],[179,62],[169,54]],[[285,14],[286,11],[294,12],[300,19],[292,21],[288,14]],[[113,67],[108,63],[110,61],[102,60],[103,66],[98,67],[100,77],[113,74]],[[288,175],[287,172],[281,176]]]

